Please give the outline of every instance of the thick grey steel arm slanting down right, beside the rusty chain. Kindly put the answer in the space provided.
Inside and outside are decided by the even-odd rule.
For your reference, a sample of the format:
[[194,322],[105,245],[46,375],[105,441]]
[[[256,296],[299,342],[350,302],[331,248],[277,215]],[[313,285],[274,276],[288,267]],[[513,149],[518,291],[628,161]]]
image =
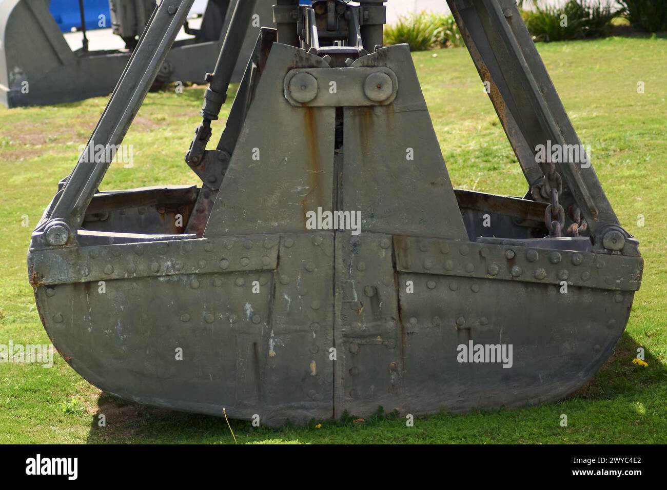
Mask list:
[[[581,147],[581,141],[516,3],[513,0],[447,2],[482,81],[488,83],[490,99],[531,186],[529,194],[539,198],[536,187],[546,181],[549,169],[548,163],[536,162],[538,145],[550,141],[561,147]],[[620,227],[591,165],[556,163],[556,170],[563,181],[560,205],[565,209],[580,209],[596,246],[614,241],[622,249],[626,241],[633,241]]]

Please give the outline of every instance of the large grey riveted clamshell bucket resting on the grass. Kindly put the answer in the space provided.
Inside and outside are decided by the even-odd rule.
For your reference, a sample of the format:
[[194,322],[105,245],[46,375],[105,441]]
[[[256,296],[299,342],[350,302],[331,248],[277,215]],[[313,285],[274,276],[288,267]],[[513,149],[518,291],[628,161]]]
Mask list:
[[[473,13],[453,4],[476,59]],[[558,215],[538,179],[538,197],[455,191],[406,45],[302,49],[275,36],[262,30],[216,149],[197,131],[188,163],[201,188],[95,193],[100,161],[77,165],[45,212],[29,273],[67,362],[125,399],[268,425],[378,406],[519,407],[590,380],[643,265],[592,167],[557,167],[556,198],[580,209],[560,227],[544,222]],[[118,94],[149,82],[145,67],[127,73]],[[526,142],[521,161],[521,94],[493,87],[510,139]],[[120,97],[99,135],[131,122]],[[535,107],[553,117],[550,101]],[[580,236],[549,236],[558,229]]]

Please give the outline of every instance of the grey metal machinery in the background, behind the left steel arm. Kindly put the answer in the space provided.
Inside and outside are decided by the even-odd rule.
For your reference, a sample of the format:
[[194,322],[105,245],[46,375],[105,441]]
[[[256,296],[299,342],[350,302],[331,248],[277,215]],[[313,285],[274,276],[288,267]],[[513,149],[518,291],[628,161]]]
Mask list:
[[[155,87],[177,81],[205,83],[204,75],[213,69],[229,28],[228,14],[237,3],[246,2],[209,0],[199,29],[183,21],[185,32],[194,37],[173,43]],[[155,0],[109,0],[109,4],[110,27],[127,49],[90,50],[84,31],[83,49],[72,51],[49,13],[48,1],[0,2],[0,103],[7,107],[47,105],[111,93],[149,22]],[[257,0],[253,19],[241,33],[244,60],[233,67],[232,81],[241,80],[260,25],[272,25],[272,5],[273,0]]]

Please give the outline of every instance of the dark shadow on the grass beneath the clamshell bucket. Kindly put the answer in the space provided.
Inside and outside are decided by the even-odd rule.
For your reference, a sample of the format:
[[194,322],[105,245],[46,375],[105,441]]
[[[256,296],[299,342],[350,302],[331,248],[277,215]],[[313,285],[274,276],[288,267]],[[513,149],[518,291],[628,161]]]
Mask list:
[[[339,421],[311,420],[303,427],[294,427],[289,421],[279,428],[253,427],[248,421],[230,420],[229,423],[238,443],[260,441],[400,443],[402,438],[411,439],[412,442],[470,443],[476,442],[478,433],[485,433],[489,426],[516,427],[517,424],[524,425],[525,430],[530,428],[530,431],[534,432],[540,427],[540,432],[543,433],[545,426],[554,425],[552,423],[554,411],[583,412],[584,416],[588,414],[592,420],[599,421],[608,418],[605,413],[611,415],[611,411],[614,410],[612,407],[616,406],[614,405],[616,399],[622,398],[624,404],[628,400],[634,404],[652,403],[656,394],[652,393],[650,387],[656,383],[666,383],[667,368],[648,352],[646,353],[648,368],[634,365],[632,359],[636,357],[638,347],[640,345],[630,335],[624,334],[614,353],[594,379],[558,403],[511,411],[497,409],[474,411],[463,415],[440,413],[421,419],[420,425],[427,424],[432,427],[431,432],[438,431],[435,440],[428,435],[429,431],[406,432],[404,416],[398,412],[385,413],[382,407],[366,420],[345,414]],[[602,403],[596,405],[596,402]],[[104,415],[103,427],[100,426],[101,415]],[[321,427],[317,427],[318,424]],[[90,427],[87,442],[91,444],[234,443],[223,417],[144,407],[128,403],[108,393],[103,393],[99,397],[98,410],[91,419]],[[558,437],[558,435],[546,434],[536,437],[542,440],[540,437]],[[355,441],[355,438],[364,440]],[[522,442],[535,441],[522,440]]]

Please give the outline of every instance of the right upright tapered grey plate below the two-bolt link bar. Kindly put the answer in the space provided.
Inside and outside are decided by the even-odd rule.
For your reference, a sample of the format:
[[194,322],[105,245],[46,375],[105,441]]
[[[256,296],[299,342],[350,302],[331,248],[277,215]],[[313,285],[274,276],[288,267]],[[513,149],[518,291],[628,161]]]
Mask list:
[[341,209],[361,211],[372,233],[466,239],[410,50],[378,49],[352,66],[392,69],[400,91],[388,106],[344,109]]

